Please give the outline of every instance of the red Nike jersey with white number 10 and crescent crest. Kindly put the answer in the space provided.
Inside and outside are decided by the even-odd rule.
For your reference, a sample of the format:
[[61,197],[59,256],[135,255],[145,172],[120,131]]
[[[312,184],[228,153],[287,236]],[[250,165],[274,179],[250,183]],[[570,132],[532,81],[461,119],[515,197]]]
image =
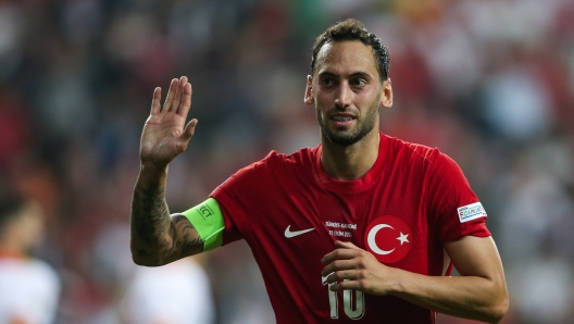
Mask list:
[[490,235],[454,161],[383,134],[377,160],[360,179],[332,178],[319,146],[271,152],[211,196],[225,219],[224,244],[247,240],[285,324],[434,323],[435,312],[397,297],[330,291],[321,259],[345,240],[388,266],[439,276],[444,241]]

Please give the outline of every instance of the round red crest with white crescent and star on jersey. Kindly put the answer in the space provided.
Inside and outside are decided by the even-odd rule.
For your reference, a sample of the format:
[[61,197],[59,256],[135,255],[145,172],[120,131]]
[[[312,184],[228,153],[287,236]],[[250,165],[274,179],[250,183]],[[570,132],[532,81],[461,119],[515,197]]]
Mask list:
[[401,260],[411,250],[411,228],[397,216],[377,217],[366,227],[365,247],[382,263]]

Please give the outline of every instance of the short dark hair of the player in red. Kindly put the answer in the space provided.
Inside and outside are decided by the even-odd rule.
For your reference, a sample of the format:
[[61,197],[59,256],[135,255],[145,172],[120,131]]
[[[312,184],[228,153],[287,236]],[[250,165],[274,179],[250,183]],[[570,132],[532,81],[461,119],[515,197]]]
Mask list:
[[369,33],[363,23],[358,20],[349,18],[330,26],[323,34],[319,35],[313,45],[313,58],[311,59],[311,74],[315,74],[315,63],[319,51],[325,43],[342,40],[360,40],[365,46],[373,49],[375,62],[377,64],[380,82],[387,79],[390,63],[389,52],[383,45],[380,38]]

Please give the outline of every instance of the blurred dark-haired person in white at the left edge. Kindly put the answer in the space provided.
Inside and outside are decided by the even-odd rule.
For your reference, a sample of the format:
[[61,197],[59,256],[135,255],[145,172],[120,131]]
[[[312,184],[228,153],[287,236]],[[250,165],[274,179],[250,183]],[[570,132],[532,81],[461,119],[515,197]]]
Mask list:
[[42,232],[39,205],[0,195],[0,323],[53,323],[60,278],[47,263],[27,256]]

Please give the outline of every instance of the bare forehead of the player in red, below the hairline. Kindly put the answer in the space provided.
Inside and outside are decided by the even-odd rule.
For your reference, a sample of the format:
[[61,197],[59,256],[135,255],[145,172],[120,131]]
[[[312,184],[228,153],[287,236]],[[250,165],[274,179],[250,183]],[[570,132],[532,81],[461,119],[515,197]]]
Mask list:
[[317,53],[315,68],[317,74],[366,72],[375,77],[378,76],[373,50],[359,40],[323,45]]

